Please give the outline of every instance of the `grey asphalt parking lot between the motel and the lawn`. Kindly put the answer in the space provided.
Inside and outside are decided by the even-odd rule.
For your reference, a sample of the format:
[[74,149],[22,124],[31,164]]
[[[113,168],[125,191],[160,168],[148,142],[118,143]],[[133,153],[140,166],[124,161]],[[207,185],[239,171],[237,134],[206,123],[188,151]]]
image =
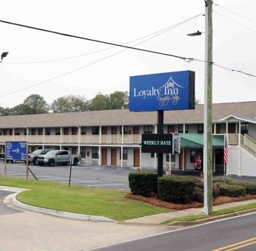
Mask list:
[[[70,166],[55,165],[49,167],[32,164],[29,165],[29,168],[39,180],[69,183]],[[128,174],[132,171],[134,171],[133,168],[77,165],[72,168],[71,185],[129,190]],[[4,162],[1,162],[0,174],[4,174]],[[26,178],[24,162],[7,163],[7,176]],[[34,179],[31,173],[29,173],[29,179]]]

